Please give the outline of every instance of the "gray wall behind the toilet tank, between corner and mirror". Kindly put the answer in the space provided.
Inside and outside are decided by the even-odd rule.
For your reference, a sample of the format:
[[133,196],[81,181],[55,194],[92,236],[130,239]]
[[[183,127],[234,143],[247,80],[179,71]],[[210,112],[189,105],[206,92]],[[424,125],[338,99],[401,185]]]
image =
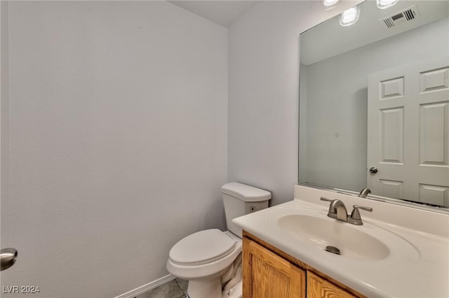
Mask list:
[[229,28],[229,180],[271,190],[272,204],[293,199],[299,35],[360,2],[260,1]]

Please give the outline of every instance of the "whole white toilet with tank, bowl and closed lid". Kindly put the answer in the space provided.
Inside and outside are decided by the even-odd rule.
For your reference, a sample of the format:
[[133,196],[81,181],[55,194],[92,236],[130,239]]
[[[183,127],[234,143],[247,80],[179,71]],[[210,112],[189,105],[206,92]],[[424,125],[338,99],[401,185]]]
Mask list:
[[234,218],[268,207],[272,194],[241,183],[222,186],[227,231],[206,229],[178,241],[168,253],[167,270],[189,281],[189,298],[240,298],[242,231]]

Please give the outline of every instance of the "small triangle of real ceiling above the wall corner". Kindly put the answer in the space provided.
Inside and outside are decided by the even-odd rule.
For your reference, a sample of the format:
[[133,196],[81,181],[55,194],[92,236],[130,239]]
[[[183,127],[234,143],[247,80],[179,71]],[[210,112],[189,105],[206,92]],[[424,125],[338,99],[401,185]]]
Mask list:
[[257,1],[168,1],[225,27],[231,26]]

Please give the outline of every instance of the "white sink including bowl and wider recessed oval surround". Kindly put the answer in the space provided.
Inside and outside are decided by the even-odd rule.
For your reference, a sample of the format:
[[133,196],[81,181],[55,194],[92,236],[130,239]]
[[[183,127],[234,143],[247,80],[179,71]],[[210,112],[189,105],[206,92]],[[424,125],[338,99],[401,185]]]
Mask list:
[[[274,208],[267,212],[266,220],[272,233],[276,231],[281,239],[293,241],[295,247],[304,253],[316,249],[320,255],[344,262],[398,262],[420,258],[413,244],[388,228],[367,220],[363,220],[363,225],[352,225],[329,218],[327,211],[307,207]],[[338,248],[340,255],[326,251],[326,246]]]

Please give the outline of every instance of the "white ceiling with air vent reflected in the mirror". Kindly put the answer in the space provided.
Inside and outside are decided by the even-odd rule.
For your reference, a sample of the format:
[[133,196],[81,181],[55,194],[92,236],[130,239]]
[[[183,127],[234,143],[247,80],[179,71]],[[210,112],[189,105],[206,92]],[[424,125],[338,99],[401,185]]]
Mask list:
[[[379,22],[383,17],[415,5],[418,15],[415,20],[387,29]],[[338,16],[322,22],[300,35],[300,54],[302,64],[312,64],[323,59],[354,50],[363,45],[375,43],[384,38],[420,27],[449,15],[449,1],[401,0],[387,9],[378,9],[375,1],[359,4],[361,8],[358,21],[348,27],[340,26]],[[417,45],[419,46],[419,45]]]

